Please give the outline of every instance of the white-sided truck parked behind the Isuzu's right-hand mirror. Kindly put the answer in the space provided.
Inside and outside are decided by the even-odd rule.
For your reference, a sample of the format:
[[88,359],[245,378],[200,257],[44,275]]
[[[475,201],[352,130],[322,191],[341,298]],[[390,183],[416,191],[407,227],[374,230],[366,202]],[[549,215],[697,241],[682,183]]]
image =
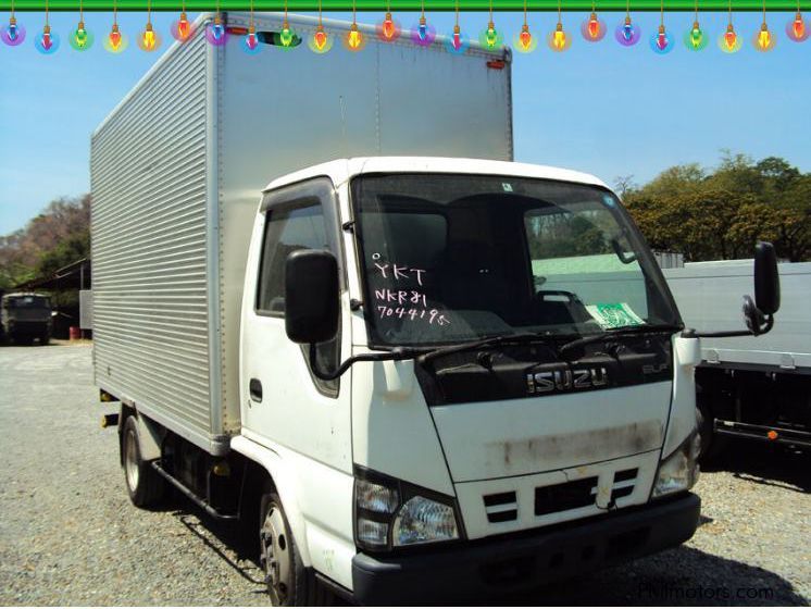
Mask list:
[[[811,448],[811,262],[779,264],[781,315],[769,334],[711,337],[696,371],[702,453],[735,437]],[[732,330],[752,283],[751,260],[688,262],[665,269],[685,323]],[[712,302],[712,307],[707,303]]]

